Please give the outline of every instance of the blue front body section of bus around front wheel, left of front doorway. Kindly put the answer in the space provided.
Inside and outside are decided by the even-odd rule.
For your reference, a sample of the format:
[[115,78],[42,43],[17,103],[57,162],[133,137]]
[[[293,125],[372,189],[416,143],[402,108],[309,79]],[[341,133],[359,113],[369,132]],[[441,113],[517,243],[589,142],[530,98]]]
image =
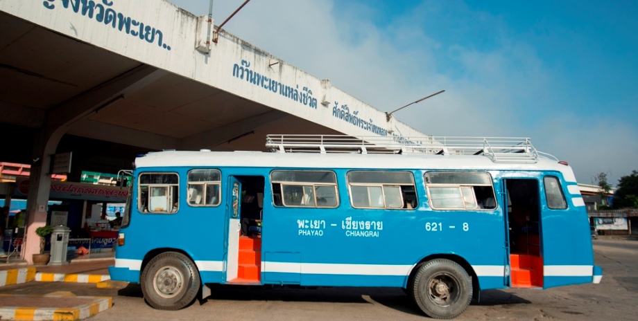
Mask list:
[[[146,171],[176,172],[174,167],[145,168]],[[180,191],[184,191],[187,183],[186,171],[177,172],[180,174]],[[120,230],[125,235],[125,244],[116,247],[111,278],[138,283],[142,260],[148,253],[153,250],[173,250],[191,257],[200,271],[203,283],[223,282],[225,204],[222,202],[216,207],[193,207],[187,204],[187,195],[182,192],[177,212],[142,213],[138,210],[138,192],[133,189],[130,225]]]

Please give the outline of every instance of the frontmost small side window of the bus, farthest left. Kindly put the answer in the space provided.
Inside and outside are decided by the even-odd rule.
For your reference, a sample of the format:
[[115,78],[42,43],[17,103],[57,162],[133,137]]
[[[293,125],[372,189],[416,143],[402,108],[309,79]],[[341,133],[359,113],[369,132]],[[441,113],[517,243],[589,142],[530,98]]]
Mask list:
[[139,175],[139,209],[145,213],[173,213],[179,206],[179,177],[175,173]]

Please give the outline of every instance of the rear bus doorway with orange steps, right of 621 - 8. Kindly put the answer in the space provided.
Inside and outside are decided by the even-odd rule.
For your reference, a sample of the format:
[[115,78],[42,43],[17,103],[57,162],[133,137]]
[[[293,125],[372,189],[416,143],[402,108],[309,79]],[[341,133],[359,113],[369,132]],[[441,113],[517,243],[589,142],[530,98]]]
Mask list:
[[[510,286],[542,288],[542,226],[539,181],[534,178],[506,179],[507,228]],[[505,208],[505,207],[503,207]]]

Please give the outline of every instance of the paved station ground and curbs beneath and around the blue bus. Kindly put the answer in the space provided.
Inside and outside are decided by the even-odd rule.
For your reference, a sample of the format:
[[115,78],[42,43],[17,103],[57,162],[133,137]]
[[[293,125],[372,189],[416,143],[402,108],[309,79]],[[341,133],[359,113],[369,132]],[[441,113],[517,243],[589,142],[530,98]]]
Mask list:
[[[617,241],[608,243],[605,239],[609,241],[615,239]],[[623,239],[636,240],[636,238],[630,237],[601,237],[601,240],[596,241],[596,244],[594,244],[594,248],[597,253],[596,264],[604,266],[603,279],[605,282],[603,282],[603,284],[585,284],[580,286],[555,288],[548,291],[536,291],[538,293],[535,291],[521,292],[521,297],[515,295],[517,292],[512,289],[508,289],[507,291],[485,291],[482,293],[481,304],[478,304],[476,307],[469,310],[474,310],[478,314],[473,315],[472,312],[469,312],[465,314],[467,319],[462,319],[471,320],[474,318],[475,320],[479,320],[481,318],[478,317],[482,313],[490,315],[491,309],[495,310],[494,313],[497,313],[495,315],[499,315],[499,313],[501,313],[500,315],[503,316],[502,313],[510,311],[510,314],[515,314],[516,312],[520,313],[523,318],[526,318],[530,316],[528,310],[531,309],[531,306],[534,304],[544,306],[542,311],[540,311],[542,312],[541,315],[543,315],[543,313],[548,313],[547,311],[553,311],[552,304],[555,304],[555,300],[560,300],[560,302],[563,302],[560,307],[562,310],[555,308],[562,311],[561,313],[558,313],[558,315],[560,315],[558,318],[559,320],[572,320],[570,313],[574,313],[574,318],[578,316],[583,318],[584,315],[601,316],[605,314],[613,315],[614,318],[612,319],[615,320],[632,320],[632,316],[637,315],[636,313],[638,313],[638,311],[635,310],[636,305],[630,304],[627,300],[633,300],[633,298],[635,298],[634,295],[629,295],[630,293],[638,293],[638,278],[630,277],[631,275],[635,275],[634,267],[636,265],[633,261],[626,262],[626,256],[630,255],[630,257],[634,257],[635,250],[629,250],[628,248],[625,248],[622,243],[618,243],[619,240]],[[634,244],[634,242],[630,243]],[[16,316],[19,315],[21,320],[81,320],[94,315],[92,319],[95,320],[112,320],[111,318],[123,318],[123,315],[121,314],[123,311],[144,309],[144,311],[148,313],[148,318],[146,318],[146,320],[161,320],[162,317],[160,317],[160,315],[164,315],[166,311],[155,311],[148,308],[148,306],[144,304],[144,300],[141,298],[139,286],[136,286],[135,284],[128,284],[126,282],[93,282],[97,285],[86,283],[80,284],[80,278],[69,277],[71,275],[92,275],[98,277],[107,276],[107,267],[114,265],[112,253],[107,255],[107,257],[92,255],[91,259],[86,259],[85,257],[82,259],[74,259],[70,264],[62,266],[28,266],[25,262],[11,262],[11,264],[0,263],[0,275],[5,271],[31,269],[33,270],[34,275],[37,270],[37,275],[42,280],[46,279],[49,281],[58,281],[37,282],[40,281],[40,279],[36,280],[33,278],[33,281],[35,282],[26,282],[25,284],[13,283],[15,285],[0,286],[0,319],[17,319]],[[625,258],[623,259],[623,257]],[[631,272],[628,270],[631,270]],[[26,274],[26,272],[24,274]],[[62,278],[60,279],[60,277],[58,277],[58,279],[55,279],[55,275],[62,275]],[[49,276],[48,279],[47,276]],[[85,282],[87,282],[86,280],[88,277],[85,277],[84,279]],[[64,283],[60,283],[60,281],[64,281]],[[100,287],[100,284],[107,285],[104,288],[98,288]],[[598,292],[605,292],[607,290],[620,291],[621,288],[627,288],[629,292],[625,295],[617,293],[618,296],[616,296],[615,300],[602,300],[607,301],[606,304],[599,305],[595,303],[599,300],[591,300],[592,296],[600,297],[603,295]],[[323,306],[320,310],[325,313],[324,309],[327,309],[327,307],[324,306],[325,304],[328,304],[329,306],[339,306],[338,303],[340,303],[340,297],[343,297],[344,295],[346,297],[350,297],[348,296],[348,293],[351,293],[352,291],[354,291],[354,294],[350,296],[356,297],[356,300],[352,299],[354,300],[353,302],[359,302],[362,297],[364,300],[365,297],[370,298],[370,300],[374,298],[373,301],[376,300],[375,302],[377,303],[383,303],[386,302],[386,300],[389,300],[386,302],[388,306],[394,307],[394,309],[390,310],[406,310],[410,311],[410,313],[408,313],[410,315],[422,317],[422,314],[419,313],[419,311],[415,310],[413,306],[408,304],[409,302],[404,300],[404,293],[402,293],[400,289],[396,288],[326,288],[309,292],[292,289],[263,291],[259,289],[250,290],[242,287],[218,288],[216,293],[207,300],[207,303],[200,302],[201,305],[193,304],[193,306],[188,309],[175,311],[172,316],[176,318],[179,315],[179,318],[182,318],[194,313],[191,316],[194,318],[200,318],[205,315],[209,315],[209,313],[211,313],[210,309],[212,308],[223,310],[224,306],[229,308],[232,306],[232,311],[244,311],[248,306],[250,306],[250,304],[257,304],[257,306],[252,306],[250,309],[258,310],[259,306],[264,304],[282,304],[282,309],[288,311],[288,309],[291,309],[291,306],[289,305],[294,304],[294,302],[299,300],[301,300],[300,304],[302,306],[299,307],[297,313],[301,313],[300,315],[305,314],[301,311],[316,309],[318,306]],[[362,296],[361,293],[357,291],[365,293],[365,295]],[[236,297],[234,294],[236,294]],[[503,295],[506,297],[503,297]],[[527,297],[530,301],[522,299],[522,297]],[[345,301],[350,302],[350,299]],[[368,300],[365,301],[367,302]],[[517,304],[521,302],[522,305]],[[534,302],[534,304],[531,304],[530,302]],[[614,304],[614,302],[619,304]],[[620,304],[621,302],[622,304]],[[110,309],[113,304],[117,304],[117,309]],[[221,306],[218,306],[218,304],[221,304]],[[27,308],[24,308],[25,306]],[[495,306],[497,306],[498,309]],[[621,311],[624,309],[619,309],[620,306],[625,306],[626,309],[631,311],[624,311],[625,313],[623,313]],[[567,307],[570,309],[567,309]],[[268,309],[275,308],[271,306]],[[488,309],[489,311],[483,311],[485,309]],[[335,315],[345,313],[345,311],[340,309],[336,310]],[[605,311],[603,312],[601,310]],[[104,311],[104,313],[96,315],[100,311]],[[6,313],[13,314],[10,316]],[[261,313],[264,313],[264,311]],[[283,312],[279,311],[279,313]],[[275,315],[281,316],[279,313],[275,313]],[[324,313],[320,313],[320,315],[325,316]],[[359,313],[362,312],[357,310],[354,315],[359,315]],[[363,310],[363,313],[368,313],[368,310]],[[549,313],[549,315],[551,314],[552,313]],[[492,317],[495,315],[492,315]],[[509,317],[512,317],[512,315],[509,315]],[[238,315],[234,315],[232,313],[225,316],[227,318],[223,317],[223,313],[219,315],[221,320],[236,320],[236,317],[238,317]],[[567,318],[568,316],[569,318]],[[121,320],[137,320],[139,317],[140,315],[137,315],[137,317],[132,319],[124,318]],[[406,317],[406,315],[403,315],[403,317]],[[370,320],[374,319],[372,315],[370,315],[370,318]],[[505,319],[508,320],[508,318]],[[585,319],[593,320],[590,318]]]

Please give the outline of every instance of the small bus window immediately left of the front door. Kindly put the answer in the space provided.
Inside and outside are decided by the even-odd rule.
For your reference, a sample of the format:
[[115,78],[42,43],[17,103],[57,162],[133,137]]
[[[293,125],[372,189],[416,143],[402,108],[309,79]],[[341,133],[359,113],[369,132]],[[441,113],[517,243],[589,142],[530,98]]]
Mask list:
[[221,203],[221,172],[218,169],[189,171],[188,203],[191,206],[217,206]]

